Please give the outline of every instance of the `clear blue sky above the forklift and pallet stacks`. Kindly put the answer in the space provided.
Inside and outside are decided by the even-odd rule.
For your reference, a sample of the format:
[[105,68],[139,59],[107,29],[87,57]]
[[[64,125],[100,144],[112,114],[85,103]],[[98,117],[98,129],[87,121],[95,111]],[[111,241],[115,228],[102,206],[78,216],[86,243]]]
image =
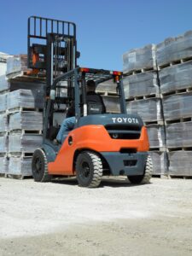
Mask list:
[[191,0],[0,0],[0,52],[25,54],[27,18],[76,23],[80,67],[123,69],[123,54],[192,30]]

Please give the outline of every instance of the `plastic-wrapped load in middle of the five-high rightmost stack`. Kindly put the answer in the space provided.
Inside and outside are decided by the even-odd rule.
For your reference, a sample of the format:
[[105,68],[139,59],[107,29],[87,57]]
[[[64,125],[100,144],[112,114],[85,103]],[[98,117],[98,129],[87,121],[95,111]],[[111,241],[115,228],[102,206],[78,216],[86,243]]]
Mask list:
[[192,92],[166,96],[163,111],[166,120],[192,117]]

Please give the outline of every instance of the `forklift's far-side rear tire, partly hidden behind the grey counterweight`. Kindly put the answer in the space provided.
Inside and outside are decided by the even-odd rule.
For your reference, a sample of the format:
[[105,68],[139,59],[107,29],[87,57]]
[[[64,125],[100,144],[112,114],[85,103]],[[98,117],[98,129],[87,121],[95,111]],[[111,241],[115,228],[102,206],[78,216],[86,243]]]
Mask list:
[[145,170],[143,175],[127,176],[129,181],[133,184],[147,184],[150,181],[153,173],[153,163],[150,155],[146,160]]

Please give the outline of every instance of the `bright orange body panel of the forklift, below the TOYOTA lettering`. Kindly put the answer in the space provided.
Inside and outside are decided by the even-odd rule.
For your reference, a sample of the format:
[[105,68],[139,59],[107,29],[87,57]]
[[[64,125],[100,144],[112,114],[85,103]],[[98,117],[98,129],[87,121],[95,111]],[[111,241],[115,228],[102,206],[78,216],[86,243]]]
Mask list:
[[[73,144],[68,144],[73,137]],[[119,152],[120,148],[136,148],[137,152],[148,151],[148,132],[143,126],[141,137],[135,140],[112,139],[103,125],[86,125],[71,131],[62,144],[55,161],[48,164],[49,174],[74,175],[73,156],[77,149],[96,152]]]

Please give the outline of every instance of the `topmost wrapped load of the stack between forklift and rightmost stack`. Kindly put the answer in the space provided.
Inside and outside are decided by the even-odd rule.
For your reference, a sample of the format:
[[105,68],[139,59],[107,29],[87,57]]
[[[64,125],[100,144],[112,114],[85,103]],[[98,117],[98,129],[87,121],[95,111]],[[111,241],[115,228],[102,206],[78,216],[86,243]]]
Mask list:
[[140,69],[155,69],[155,45],[148,44],[143,48],[131,49],[123,55],[123,71],[129,73]]

